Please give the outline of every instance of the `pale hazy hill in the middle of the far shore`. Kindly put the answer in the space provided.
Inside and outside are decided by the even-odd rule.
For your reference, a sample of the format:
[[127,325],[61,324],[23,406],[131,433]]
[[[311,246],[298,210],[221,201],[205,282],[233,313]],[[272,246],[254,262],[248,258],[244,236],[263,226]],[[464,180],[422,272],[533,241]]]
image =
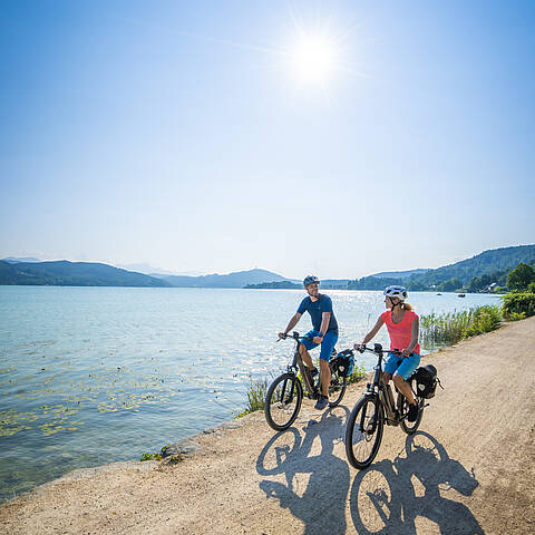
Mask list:
[[236,271],[226,275],[213,274],[201,276],[166,275],[162,280],[178,288],[244,288],[247,284],[264,282],[292,281],[266,270]]

